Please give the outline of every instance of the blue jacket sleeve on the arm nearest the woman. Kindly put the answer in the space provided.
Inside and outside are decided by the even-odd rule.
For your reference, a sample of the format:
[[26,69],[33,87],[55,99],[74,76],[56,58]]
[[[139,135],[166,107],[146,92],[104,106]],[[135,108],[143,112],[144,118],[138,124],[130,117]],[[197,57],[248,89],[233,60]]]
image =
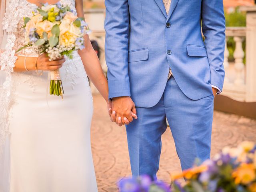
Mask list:
[[109,98],[130,96],[128,76],[128,0],[105,0],[106,63]]

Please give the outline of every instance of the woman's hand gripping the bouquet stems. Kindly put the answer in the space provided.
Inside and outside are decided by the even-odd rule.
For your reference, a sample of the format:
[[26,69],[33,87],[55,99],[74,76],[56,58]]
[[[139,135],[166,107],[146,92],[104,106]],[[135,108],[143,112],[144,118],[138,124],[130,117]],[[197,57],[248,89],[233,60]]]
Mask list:
[[43,71],[54,71],[62,67],[62,64],[65,62],[64,56],[58,60],[49,61],[49,57],[46,53],[40,55],[37,59],[37,69]]

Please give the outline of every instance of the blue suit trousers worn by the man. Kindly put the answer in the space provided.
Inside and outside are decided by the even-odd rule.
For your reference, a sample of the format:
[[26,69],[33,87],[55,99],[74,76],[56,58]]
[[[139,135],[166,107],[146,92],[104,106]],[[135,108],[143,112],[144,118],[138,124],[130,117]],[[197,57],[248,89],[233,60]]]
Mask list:
[[166,118],[182,170],[192,167],[196,158],[201,162],[210,158],[213,100],[213,94],[199,100],[188,98],[171,76],[155,106],[137,107],[138,119],[126,126],[132,175],[156,177]]

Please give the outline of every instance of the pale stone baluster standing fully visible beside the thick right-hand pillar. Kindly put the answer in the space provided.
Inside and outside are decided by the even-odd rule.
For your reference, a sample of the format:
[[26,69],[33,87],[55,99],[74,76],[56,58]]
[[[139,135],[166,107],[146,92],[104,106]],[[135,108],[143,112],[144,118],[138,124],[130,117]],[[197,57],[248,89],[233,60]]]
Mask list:
[[236,42],[236,49],[234,51],[234,58],[235,58],[235,70],[236,70],[236,78],[234,84],[237,86],[244,85],[244,51],[242,48],[242,42],[244,37],[235,36],[234,41]]

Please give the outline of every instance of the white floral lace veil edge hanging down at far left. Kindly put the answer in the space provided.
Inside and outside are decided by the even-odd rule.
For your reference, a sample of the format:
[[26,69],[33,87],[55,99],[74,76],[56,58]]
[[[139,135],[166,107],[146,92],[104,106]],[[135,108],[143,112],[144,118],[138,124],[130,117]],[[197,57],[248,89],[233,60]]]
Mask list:
[[[0,156],[2,146],[8,136],[8,122],[9,122],[9,109],[12,104],[12,76],[13,68],[17,57],[15,56],[14,42],[16,40],[15,32],[17,30],[18,22],[22,19],[22,10],[18,8],[22,4],[21,0],[8,0],[6,3],[6,10],[2,22],[4,30],[5,45],[1,46],[0,53],[0,67],[4,71],[0,73]],[[4,76],[4,78],[3,78]]]

